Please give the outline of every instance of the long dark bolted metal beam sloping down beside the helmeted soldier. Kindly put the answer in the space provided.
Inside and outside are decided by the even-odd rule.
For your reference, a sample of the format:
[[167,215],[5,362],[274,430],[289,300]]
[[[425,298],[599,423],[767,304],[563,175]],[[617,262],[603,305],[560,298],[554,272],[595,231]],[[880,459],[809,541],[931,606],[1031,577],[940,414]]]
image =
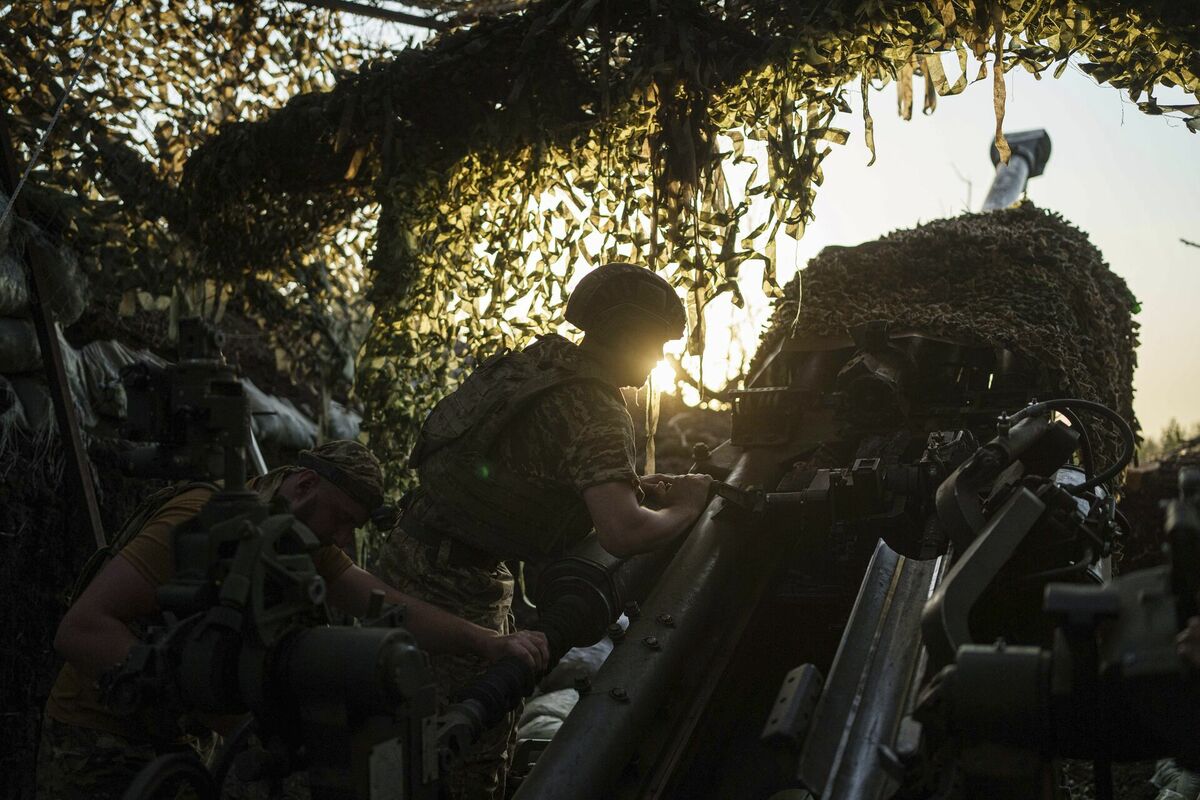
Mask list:
[[[776,470],[764,452],[743,455],[734,486],[768,485]],[[774,540],[745,536],[738,522],[714,518],[710,506],[631,620],[592,691],[581,698],[517,792],[518,800],[608,798],[610,788],[660,718],[672,688],[704,668],[722,620],[752,601],[754,582],[742,569],[755,548]]]

